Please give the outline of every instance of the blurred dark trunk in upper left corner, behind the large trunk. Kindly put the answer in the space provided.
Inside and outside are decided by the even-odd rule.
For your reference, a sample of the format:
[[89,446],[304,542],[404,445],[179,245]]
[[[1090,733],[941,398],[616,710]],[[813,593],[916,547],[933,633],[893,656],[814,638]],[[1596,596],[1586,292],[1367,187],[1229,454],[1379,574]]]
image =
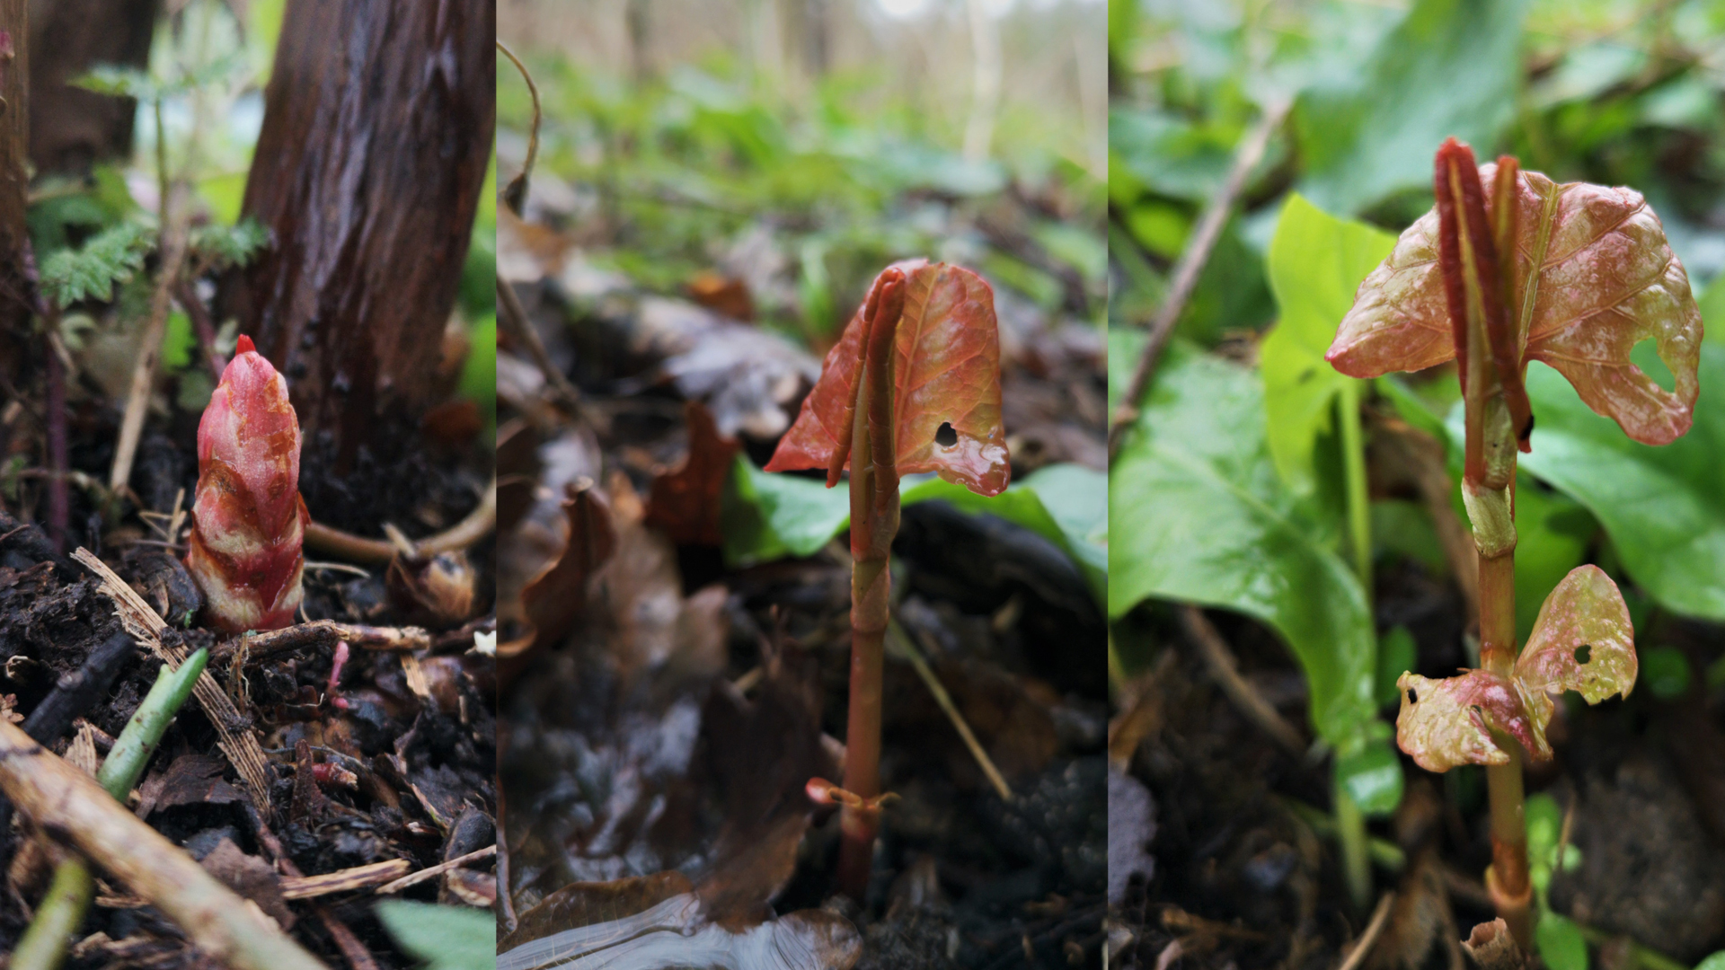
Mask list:
[[29,0],[29,159],[43,173],[86,173],[131,157],[138,102],[67,81],[98,64],[143,69],[162,0]]

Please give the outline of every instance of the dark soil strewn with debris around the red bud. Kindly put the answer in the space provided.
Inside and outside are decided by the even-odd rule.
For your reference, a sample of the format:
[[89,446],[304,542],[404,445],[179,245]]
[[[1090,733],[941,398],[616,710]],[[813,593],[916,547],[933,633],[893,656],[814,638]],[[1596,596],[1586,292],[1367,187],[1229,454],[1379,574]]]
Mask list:
[[[104,480],[117,435],[117,404],[95,388],[76,397],[69,425],[71,464]],[[172,400],[172,388],[169,388]],[[166,514],[183,490],[181,509],[197,483],[197,413],[176,406],[152,416],[140,444],[133,492],[147,511]],[[390,461],[411,475],[361,463],[352,478],[336,478],[307,447],[302,494],[314,520],[381,537],[378,523],[397,523],[411,537],[454,525],[473,509],[476,485],[490,459],[476,444],[452,450],[417,444],[412,428],[393,430]],[[490,450],[488,447],[485,449]],[[40,454],[40,452],[38,452]],[[136,514],[131,499],[102,509],[91,492],[72,488],[67,547],[98,552],[171,621],[164,640],[216,647],[217,637],[197,627],[198,595],[179,566],[183,547]],[[40,509],[41,494],[28,485],[21,504]],[[17,506],[12,506],[14,511]],[[105,518],[104,518],[105,516]],[[271,806],[254,804],[233,766],[216,746],[216,730],[197,702],[188,702],[169,728],[138,785],[136,806],[152,827],[183,846],[205,868],[254,899],[292,935],[331,967],[348,965],[331,937],[345,927],[378,967],[405,968],[414,961],[395,949],[373,915],[376,896],[348,891],[304,901],[283,901],[283,873],[329,873],[386,860],[405,860],[405,872],[436,865],[492,844],[495,796],[495,671],[493,661],[466,651],[473,630],[488,630],[492,611],[492,542],[469,551],[476,597],[469,616],[428,620],[386,570],[305,571],[305,616],[378,627],[428,627],[433,647],[417,654],[426,694],[416,694],[404,673],[404,654],[354,649],[336,704],[329,690],[328,649],[298,649],[248,661],[243,649],[214,649],[209,673],[250,720],[273,773]],[[329,559],[307,551],[307,561]],[[364,573],[364,575],[357,575]],[[191,613],[191,625],[186,614]],[[473,621],[473,623],[467,623]],[[17,715],[29,715],[55,680],[76,670],[90,651],[119,630],[114,604],[97,592],[97,580],[53,547],[36,525],[0,509],[0,665]],[[78,715],[105,735],[117,735],[160,668],[140,646],[100,701]],[[66,753],[74,732],[43,739]],[[102,734],[98,753],[105,753]],[[319,784],[310,770],[338,775]],[[328,768],[324,768],[328,766]],[[345,770],[347,775],[342,777]],[[52,868],[24,828],[0,832],[0,858],[10,861],[0,896],[0,951],[9,951],[28,925],[26,903],[40,899]],[[100,872],[98,872],[100,879]],[[122,885],[98,885],[98,898],[122,898]],[[478,870],[431,879],[400,894],[405,899],[488,906],[493,880]],[[340,930],[336,930],[340,932]],[[105,934],[95,935],[95,934]],[[97,903],[67,967],[205,967],[183,932],[154,908]],[[119,960],[119,963],[116,963]]]

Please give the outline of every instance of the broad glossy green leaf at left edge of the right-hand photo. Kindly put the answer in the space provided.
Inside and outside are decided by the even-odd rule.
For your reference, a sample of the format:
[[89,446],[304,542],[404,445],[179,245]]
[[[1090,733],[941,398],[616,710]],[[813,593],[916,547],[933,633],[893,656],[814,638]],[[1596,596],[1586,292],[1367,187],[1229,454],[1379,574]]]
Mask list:
[[1311,723],[1340,744],[1375,716],[1377,646],[1321,525],[1270,459],[1259,376],[1170,345],[1109,473],[1109,616],[1156,597],[1261,620],[1306,671]]

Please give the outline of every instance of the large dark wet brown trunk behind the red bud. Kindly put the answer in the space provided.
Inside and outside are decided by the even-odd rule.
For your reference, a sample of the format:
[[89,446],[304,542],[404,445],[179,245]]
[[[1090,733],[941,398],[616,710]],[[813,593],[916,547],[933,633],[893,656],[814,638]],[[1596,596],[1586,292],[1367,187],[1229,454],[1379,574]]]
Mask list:
[[338,473],[433,395],[492,154],[495,33],[493,0],[288,3],[245,186],[276,245],[229,297]]

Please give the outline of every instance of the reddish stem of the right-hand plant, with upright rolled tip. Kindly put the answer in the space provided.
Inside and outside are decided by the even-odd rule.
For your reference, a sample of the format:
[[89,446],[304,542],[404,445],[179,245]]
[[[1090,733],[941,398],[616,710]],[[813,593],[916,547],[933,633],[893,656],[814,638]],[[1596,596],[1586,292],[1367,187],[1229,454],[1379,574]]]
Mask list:
[[[1511,324],[1513,254],[1504,252],[1499,262],[1499,249],[1513,247],[1515,240],[1515,217],[1504,211],[1515,205],[1506,195],[1513,185],[1511,169],[1511,178],[1496,185],[1499,217],[1490,224],[1473,152],[1454,138],[1437,152],[1439,259],[1468,428],[1463,495],[1480,566],[1480,666],[1506,677],[1516,659],[1511,487],[1516,445],[1527,447],[1532,430]],[[1511,268],[1508,280],[1506,268]],[[1516,942],[1532,949],[1534,887],[1527,866],[1520,744],[1508,735],[1497,740],[1509,753],[1509,763],[1485,770],[1492,808],[1492,866],[1485,870],[1485,885]]]

